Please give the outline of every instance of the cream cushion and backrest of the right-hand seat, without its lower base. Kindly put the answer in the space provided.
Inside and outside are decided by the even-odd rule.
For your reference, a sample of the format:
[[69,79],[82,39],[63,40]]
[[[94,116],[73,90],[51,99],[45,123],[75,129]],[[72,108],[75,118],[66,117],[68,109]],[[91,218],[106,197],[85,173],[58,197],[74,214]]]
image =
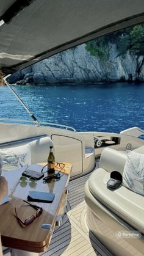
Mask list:
[[[144,153],[144,145],[135,148],[134,151]],[[123,175],[125,163],[126,152],[104,148],[99,161],[99,168],[88,179],[88,189],[93,197],[106,208],[109,208],[110,211],[117,214],[123,221],[144,233],[142,217],[144,213],[143,196],[124,186],[120,186],[115,191],[107,189],[106,183],[110,178],[110,172],[117,170]],[[135,214],[136,212],[137,214]]]

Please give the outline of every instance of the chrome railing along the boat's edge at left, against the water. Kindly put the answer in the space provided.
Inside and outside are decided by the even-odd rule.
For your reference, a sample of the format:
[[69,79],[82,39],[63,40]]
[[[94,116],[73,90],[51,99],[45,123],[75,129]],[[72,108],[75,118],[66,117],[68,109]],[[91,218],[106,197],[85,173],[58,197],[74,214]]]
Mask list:
[[68,126],[68,125],[60,125],[59,123],[39,122],[39,125],[37,125],[37,123],[35,123],[35,121],[33,121],[33,120],[6,119],[6,118],[0,118],[0,122],[21,124],[21,125],[24,125],[24,124],[34,125],[35,124],[35,126],[50,126],[50,127],[54,127],[54,128],[61,128],[61,129],[76,132],[76,129],[74,129],[73,127]]

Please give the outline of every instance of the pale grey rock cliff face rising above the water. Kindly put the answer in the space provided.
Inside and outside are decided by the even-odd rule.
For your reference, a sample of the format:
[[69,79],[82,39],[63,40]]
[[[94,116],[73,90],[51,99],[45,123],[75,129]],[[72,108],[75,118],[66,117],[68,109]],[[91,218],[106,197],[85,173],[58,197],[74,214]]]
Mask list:
[[85,84],[98,82],[144,81],[143,56],[118,54],[115,44],[109,45],[105,61],[92,56],[85,44],[25,68],[10,76],[9,82],[19,84]]

